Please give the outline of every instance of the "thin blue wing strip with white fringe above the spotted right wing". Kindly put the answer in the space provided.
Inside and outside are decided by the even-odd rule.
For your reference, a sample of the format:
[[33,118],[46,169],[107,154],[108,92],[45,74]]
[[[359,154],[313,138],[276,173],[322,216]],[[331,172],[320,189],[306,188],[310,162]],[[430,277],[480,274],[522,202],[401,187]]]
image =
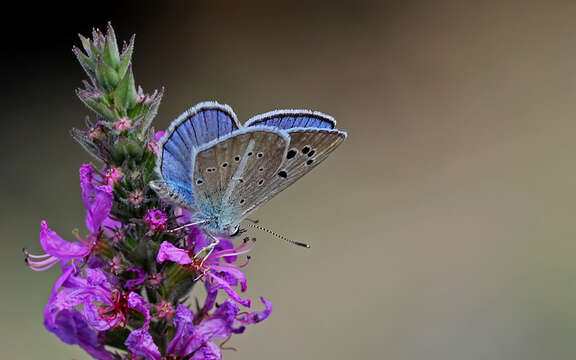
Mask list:
[[254,116],[244,126],[270,126],[278,129],[334,129],[336,120],[330,115],[311,110],[276,110]]

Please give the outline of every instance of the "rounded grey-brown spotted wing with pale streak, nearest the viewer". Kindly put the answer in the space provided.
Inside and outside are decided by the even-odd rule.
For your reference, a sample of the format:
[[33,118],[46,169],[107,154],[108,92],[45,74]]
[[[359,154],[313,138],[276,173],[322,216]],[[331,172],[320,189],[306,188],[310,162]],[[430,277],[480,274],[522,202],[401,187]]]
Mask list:
[[266,197],[285,158],[284,131],[254,127],[201,148],[194,161],[195,202],[208,217],[231,224]]

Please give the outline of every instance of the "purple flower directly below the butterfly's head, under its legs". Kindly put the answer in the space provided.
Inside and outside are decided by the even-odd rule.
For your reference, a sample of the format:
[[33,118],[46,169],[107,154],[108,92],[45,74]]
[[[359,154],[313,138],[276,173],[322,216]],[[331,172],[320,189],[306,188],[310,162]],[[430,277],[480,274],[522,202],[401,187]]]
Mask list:
[[[204,244],[197,242],[195,248],[202,249]],[[166,260],[186,265],[199,276],[205,277],[206,281],[215,289],[223,289],[234,301],[246,307],[250,307],[250,299],[242,299],[232,288],[240,284],[242,292],[246,291],[246,277],[240,271],[248,262],[242,265],[235,265],[228,262],[228,258],[236,258],[240,254],[248,253],[252,247],[247,247],[247,243],[234,248],[228,240],[221,240],[214,251],[207,258],[194,257],[194,250],[180,249],[168,241],[160,245],[160,250],[156,256],[156,261],[162,263]]]

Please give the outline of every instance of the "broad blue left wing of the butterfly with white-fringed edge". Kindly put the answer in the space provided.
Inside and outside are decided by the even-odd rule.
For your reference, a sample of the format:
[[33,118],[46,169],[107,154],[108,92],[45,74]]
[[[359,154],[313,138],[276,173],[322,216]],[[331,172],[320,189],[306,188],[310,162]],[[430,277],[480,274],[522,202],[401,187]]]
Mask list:
[[162,196],[195,208],[193,160],[198,148],[241,127],[234,111],[217,102],[203,102],[181,114],[159,141],[156,169],[160,181],[152,187]]

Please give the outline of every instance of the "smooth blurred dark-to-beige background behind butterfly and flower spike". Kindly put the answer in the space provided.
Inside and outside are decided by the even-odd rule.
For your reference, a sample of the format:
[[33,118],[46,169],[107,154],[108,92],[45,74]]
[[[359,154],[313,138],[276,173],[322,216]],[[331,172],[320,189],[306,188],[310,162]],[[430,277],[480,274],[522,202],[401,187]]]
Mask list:
[[[101,4],[101,5],[99,5]],[[574,359],[576,2],[92,2],[17,5],[1,54],[0,355],[87,359],[42,326],[59,271],[34,273],[40,220],[84,229],[68,136],[89,110],[76,34],[136,33],[135,75],[166,87],[158,129],[203,100],[348,131],[257,214],[248,296],[275,309],[225,359]]]

